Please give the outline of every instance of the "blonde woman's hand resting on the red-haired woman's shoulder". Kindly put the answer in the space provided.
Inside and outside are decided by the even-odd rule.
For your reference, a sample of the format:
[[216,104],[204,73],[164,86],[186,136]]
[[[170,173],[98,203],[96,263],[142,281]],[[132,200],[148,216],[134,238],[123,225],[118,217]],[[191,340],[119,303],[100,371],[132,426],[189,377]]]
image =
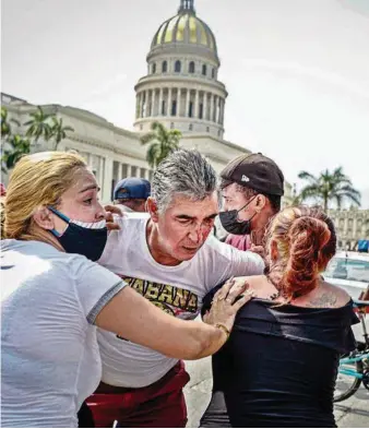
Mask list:
[[[242,295],[241,295],[242,294]],[[252,289],[242,281],[230,278],[213,298],[212,308],[203,317],[205,323],[223,325],[229,332],[235,322],[237,311],[253,296]]]

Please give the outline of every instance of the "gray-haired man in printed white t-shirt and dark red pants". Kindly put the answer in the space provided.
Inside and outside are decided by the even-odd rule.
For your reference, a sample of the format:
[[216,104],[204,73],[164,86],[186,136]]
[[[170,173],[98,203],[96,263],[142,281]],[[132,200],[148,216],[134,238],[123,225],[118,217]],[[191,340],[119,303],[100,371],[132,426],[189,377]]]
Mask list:
[[[197,151],[179,150],[157,168],[148,214],[128,214],[110,234],[99,263],[121,275],[164,311],[194,319],[203,297],[230,276],[261,274],[262,259],[219,242],[212,231],[219,212],[216,172]],[[160,332],[157,333],[160,335]],[[87,401],[97,427],[184,427],[177,359],[98,332],[103,378]]]

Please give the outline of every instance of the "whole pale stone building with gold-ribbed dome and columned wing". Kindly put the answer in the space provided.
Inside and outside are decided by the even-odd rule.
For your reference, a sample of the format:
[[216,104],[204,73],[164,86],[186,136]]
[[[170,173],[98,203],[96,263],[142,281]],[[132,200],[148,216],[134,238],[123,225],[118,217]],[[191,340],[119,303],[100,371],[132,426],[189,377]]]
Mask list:
[[[73,128],[58,150],[74,150],[85,157],[100,184],[104,203],[111,200],[115,183],[121,178],[152,179],[147,147],[141,144],[140,136],[154,121],[180,130],[180,145],[198,148],[216,171],[236,156],[249,153],[223,139],[227,91],[217,79],[221,62],[215,36],[197,15],[193,0],[181,0],[178,13],[158,26],[146,61],[147,74],[134,87],[134,131],[84,109],[58,104],[41,106],[46,114],[56,115],[64,126]],[[1,102],[9,118],[20,123],[26,122],[37,109],[34,104],[9,94],[1,94]],[[14,128],[14,132],[23,135],[25,129]],[[34,151],[53,147],[52,142],[39,141]],[[289,193],[288,183],[286,190]]]

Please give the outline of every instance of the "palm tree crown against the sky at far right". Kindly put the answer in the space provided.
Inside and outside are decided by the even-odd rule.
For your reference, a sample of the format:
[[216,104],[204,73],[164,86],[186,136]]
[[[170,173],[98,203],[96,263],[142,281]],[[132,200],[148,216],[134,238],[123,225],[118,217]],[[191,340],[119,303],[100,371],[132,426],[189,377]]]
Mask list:
[[333,172],[326,169],[319,177],[308,171],[301,171],[298,177],[308,182],[301,190],[302,199],[320,200],[323,202],[324,211],[328,210],[328,203],[331,200],[336,202],[338,208],[341,208],[344,200],[360,205],[360,192],[353,187],[350,179],[344,175],[342,167],[336,168]]

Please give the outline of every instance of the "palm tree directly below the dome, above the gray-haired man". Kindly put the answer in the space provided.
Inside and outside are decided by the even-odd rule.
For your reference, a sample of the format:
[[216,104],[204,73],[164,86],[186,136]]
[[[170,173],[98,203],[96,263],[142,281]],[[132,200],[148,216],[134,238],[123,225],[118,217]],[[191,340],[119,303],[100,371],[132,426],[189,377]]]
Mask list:
[[179,147],[182,136],[178,130],[167,130],[160,122],[151,124],[151,132],[141,136],[142,144],[148,144],[146,160],[152,168],[156,168],[172,151]]

